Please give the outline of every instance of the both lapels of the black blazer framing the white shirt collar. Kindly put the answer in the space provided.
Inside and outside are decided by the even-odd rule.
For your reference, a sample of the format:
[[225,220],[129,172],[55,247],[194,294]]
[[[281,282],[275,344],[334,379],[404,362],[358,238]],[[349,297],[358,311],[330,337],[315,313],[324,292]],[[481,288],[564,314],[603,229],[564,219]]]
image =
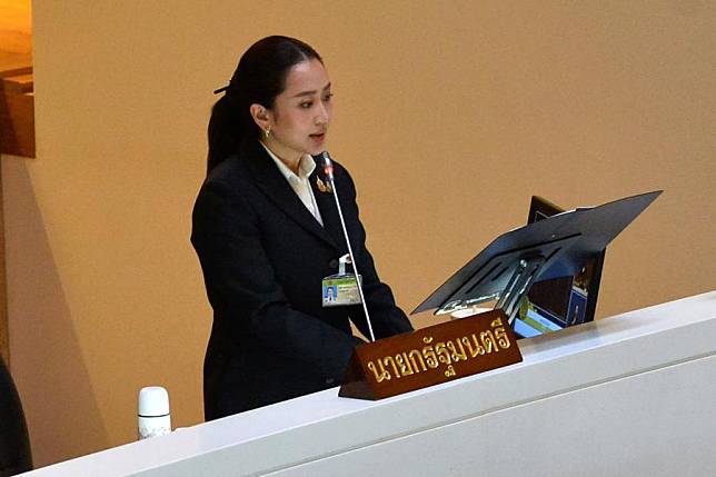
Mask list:
[[[290,219],[295,220],[299,226],[314,233],[319,239],[328,242],[334,248],[339,248],[339,245],[342,246],[344,240],[336,240],[336,238],[340,238],[340,236],[335,236],[334,222],[338,221],[336,205],[326,200],[335,199],[331,195],[318,191],[316,186],[316,178],[318,177],[317,173],[320,169],[319,167],[316,167],[314,173],[309,177],[309,181],[324,220],[324,227],[321,227],[314,215],[308,211],[304,202],[301,202],[294,189],[291,189],[291,186],[288,183],[284,175],[281,175],[281,171],[278,169],[276,163],[274,163],[274,160],[268,156],[263,147],[257,140],[245,141],[241,149],[243,152],[242,156],[248,161],[249,170],[253,176],[253,181],[261,192],[276,203],[277,207],[284,210]],[[340,230],[340,222],[338,222],[338,228]]]

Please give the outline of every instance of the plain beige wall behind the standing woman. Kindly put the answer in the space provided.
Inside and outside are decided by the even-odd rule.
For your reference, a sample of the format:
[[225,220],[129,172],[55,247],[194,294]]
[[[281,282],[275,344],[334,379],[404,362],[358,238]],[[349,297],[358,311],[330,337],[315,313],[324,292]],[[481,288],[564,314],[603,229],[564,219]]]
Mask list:
[[210,310],[189,216],[211,90],[266,34],[324,54],[331,152],[406,309],[520,225],[533,193],[575,207],[666,189],[609,248],[599,316],[714,288],[714,2],[74,0],[33,16],[38,158],[3,158],[2,180],[38,464],[133,439],[141,386],[168,387],[175,425],[201,420]]

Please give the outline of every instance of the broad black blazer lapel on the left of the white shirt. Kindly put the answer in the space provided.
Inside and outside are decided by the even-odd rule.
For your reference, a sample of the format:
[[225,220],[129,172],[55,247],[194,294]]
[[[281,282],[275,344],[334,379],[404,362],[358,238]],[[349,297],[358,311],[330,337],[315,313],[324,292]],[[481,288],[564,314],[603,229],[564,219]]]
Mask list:
[[[291,189],[291,186],[276,167],[274,160],[266,153],[263,147],[258,141],[248,141],[245,146],[246,158],[249,160],[250,170],[258,188],[298,225],[337,248],[332,235],[320,226],[314,215],[301,202],[301,199]],[[318,198],[316,199],[318,200]],[[319,209],[322,218],[324,210],[320,206]]]

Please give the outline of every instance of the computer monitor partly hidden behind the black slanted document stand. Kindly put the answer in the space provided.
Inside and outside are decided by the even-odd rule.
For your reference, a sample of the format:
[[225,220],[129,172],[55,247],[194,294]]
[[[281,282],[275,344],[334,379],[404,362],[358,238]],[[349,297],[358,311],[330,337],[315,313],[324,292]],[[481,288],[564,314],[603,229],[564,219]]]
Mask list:
[[[527,223],[564,212],[548,200],[533,196]],[[594,320],[605,250],[587,260],[579,274],[538,281],[520,304],[515,319],[518,338],[531,338]]]

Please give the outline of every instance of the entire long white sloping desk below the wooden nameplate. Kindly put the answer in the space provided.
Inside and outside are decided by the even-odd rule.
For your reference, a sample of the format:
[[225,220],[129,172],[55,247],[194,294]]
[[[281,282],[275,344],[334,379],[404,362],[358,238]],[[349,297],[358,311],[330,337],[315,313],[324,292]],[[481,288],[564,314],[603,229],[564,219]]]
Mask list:
[[706,476],[716,291],[520,341],[524,361],[368,401],[328,389],[29,476]]

